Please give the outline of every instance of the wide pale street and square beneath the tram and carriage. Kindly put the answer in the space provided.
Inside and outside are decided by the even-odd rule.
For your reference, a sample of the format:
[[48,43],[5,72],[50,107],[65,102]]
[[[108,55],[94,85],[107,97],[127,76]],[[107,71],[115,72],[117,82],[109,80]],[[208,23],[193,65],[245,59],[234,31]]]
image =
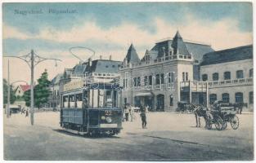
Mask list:
[[90,138],[68,133],[59,126],[60,112],[37,112],[29,117],[4,118],[5,160],[106,160],[106,161],[250,161],[254,159],[253,114],[238,115],[240,126],[218,131],[195,127],[193,114],[147,113],[123,123],[113,137]]

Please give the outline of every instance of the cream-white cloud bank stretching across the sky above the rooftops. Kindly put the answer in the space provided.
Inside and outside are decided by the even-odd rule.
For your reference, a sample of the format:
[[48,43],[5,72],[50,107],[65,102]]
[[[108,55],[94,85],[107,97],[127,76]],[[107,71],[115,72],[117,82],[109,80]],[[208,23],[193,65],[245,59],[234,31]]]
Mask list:
[[[17,38],[22,42],[26,42],[28,39],[41,39],[46,42],[58,42],[65,45],[67,43],[70,43],[69,45],[81,45],[83,42],[101,42],[99,45],[94,46],[94,50],[97,51],[97,57],[103,55],[107,59],[109,55],[112,55],[112,59],[116,60],[124,59],[131,42],[136,47],[140,57],[142,57],[146,49],[152,48],[157,40],[164,37],[173,37],[177,29],[184,39],[210,43],[215,50],[248,45],[253,42],[252,32],[240,31],[238,22],[231,19],[213,22],[187,16],[186,23],[181,25],[170,24],[166,20],[155,17],[154,24],[155,33],[150,33],[148,30],[141,29],[137,24],[129,22],[123,22],[119,26],[109,29],[101,29],[95,21],[90,21],[65,31],[49,27],[34,36],[21,33],[19,29],[3,24],[3,39]],[[43,54],[43,57],[46,58],[62,59],[63,62],[58,64],[58,67],[54,67],[55,63],[51,61],[38,64],[35,78],[38,78],[45,68],[48,70],[49,78],[52,78],[57,73],[63,73],[64,68],[72,68],[79,63],[78,59],[70,55],[68,51],[70,47],[66,47],[65,51],[63,51],[63,47],[62,50],[58,48],[60,47],[52,46],[48,50],[45,50],[45,48],[42,48],[42,50],[38,47],[37,52],[39,55]],[[27,53],[28,51],[23,54]],[[11,80],[29,81],[29,68],[25,66],[26,64],[18,59],[11,60]],[[7,77],[7,59],[3,59],[3,77]]]

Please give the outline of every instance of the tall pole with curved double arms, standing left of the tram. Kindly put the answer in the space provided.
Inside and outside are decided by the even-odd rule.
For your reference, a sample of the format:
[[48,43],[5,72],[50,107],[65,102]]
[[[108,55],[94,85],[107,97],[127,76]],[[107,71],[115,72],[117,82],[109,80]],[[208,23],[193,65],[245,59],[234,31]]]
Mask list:
[[[31,80],[30,80],[30,122],[31,125],[34,125],[34,67],[39,63],[43,62],[44,60],[55,60],[55,61],[62,61],[61,59],[47,59],[43,58],[39,55],[36,55],[33,50],[29,52],[28,55],[23,56],[3,56],[3,57],[12,57],[17,59],[22,59],[29,65],[30,73],[31,73]],[[9,60],[8,60],[8,73],[9,73]],[[9,83],[9,79],[8,79]],[[10,92],[8,91],[8,97],[10,97]]]

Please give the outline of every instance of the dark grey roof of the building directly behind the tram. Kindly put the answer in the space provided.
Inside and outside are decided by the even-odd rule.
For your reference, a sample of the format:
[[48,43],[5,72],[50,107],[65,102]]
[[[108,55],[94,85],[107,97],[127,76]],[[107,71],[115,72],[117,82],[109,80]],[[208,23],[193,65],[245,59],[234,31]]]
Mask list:
[[97,59],[92,60],[92,66],[88,67],[88,73],[118,73],[119,66],[122,64],[120,61]]

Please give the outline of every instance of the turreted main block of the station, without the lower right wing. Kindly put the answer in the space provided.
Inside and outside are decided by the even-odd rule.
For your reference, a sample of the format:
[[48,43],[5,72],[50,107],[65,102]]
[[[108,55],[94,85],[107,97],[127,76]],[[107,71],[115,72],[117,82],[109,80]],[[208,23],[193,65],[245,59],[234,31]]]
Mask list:
[[[131,45],[119,69],[124,87],[122,104],[148,105],[152,111],[175,111],[178,101],[190,99],[189,92],[181,91],[182,82],[199,81],[200,61],[212,51],[206,44],[184,42],[178,32],[172,40],[157,42],[142,59]],[[206,90],[193,93],[206,99]]]

